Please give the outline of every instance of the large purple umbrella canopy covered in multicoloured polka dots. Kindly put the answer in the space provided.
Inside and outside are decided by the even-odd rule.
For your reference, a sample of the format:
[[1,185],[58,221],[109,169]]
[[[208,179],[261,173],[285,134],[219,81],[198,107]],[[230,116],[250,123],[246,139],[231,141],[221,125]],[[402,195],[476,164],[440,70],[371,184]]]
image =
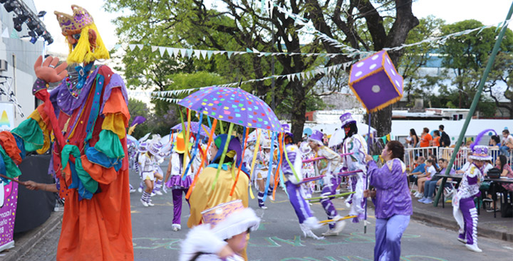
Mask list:
[[224,122],[283,132],[269,105],[240,88],[206,87],[178,104]]

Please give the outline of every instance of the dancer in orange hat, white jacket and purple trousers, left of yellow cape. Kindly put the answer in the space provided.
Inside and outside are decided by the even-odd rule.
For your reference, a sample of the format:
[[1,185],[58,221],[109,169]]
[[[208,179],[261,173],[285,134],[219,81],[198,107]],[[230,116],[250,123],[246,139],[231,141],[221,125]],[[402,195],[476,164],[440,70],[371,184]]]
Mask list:
[[[173,146],[169,165],[167,166],[167,173],[171,175],[171,178],[169,181],[167,181],[166,186],[171,188],[173,196],[173,231],[182,229],[182,196],[187,193],[187,190],[189,190],[189,187],[192,183],[191,175],[195,171],[194,167],[190,168],[189,171],[187,171],[187,174],[185,174],[187,175],[185,176],[185,179],[182,179],[182,173],[187,166],[183,165],[183,158],[184,156],[187,157],[187,152],[188,149],[185,148],[184,132],[180,132],[180,134],[177,136],[175,146]],[[189,164],[189,161],[190,159],[187,157],[185,164]],[[187,203],[189,203],[189,200],[187,200]]]

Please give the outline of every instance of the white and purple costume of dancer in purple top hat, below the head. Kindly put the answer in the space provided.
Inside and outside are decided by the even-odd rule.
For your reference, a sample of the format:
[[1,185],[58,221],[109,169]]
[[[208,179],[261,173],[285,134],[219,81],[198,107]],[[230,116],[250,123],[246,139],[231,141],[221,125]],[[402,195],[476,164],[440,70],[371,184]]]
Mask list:
[[343,144],[343,153],[353,153],[351,155],[344,156],[343,158],[343,170],[344,171],[356,171],[361,170],[356,175],[351,176],[349,182],[351,184],[351,194],[346,200],[347,204],[351,204],[351,211],[349,215],[356,215],[353,218],[353,223],[358,223],[360,219],[365,217],[365,200],[363,198],[363,191],[366,189],[365,175],[367,172],[365,164],[365,156],[367,154],[367,142],[360,134],[353,134],[348,137]]

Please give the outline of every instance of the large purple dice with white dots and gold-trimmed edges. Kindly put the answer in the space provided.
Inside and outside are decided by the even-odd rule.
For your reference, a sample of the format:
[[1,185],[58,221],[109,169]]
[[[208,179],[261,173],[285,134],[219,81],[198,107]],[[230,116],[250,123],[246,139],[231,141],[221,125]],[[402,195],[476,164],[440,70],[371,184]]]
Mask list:
[[349,87],[367,112],[381,110],[403,97],[403,77],[385,50],[352,65]]

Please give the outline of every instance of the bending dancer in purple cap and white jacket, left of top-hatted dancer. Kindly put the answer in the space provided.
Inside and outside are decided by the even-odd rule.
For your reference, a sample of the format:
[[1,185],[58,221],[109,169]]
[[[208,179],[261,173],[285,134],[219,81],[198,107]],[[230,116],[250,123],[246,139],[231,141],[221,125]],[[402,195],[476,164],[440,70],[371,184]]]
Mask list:
[[[338,175],[333,175],[333,171],[336,171],[342,158],[335,151],[332,151],[328,147],[324,146],[322,138],[322,132],[315,131],[314,134],[311,134],[309,137],[308,142],[311,149],[315,152],[316,157],[324,157],[324,159],[319,159],[314,164],[318,174],[325,175],[321,193],[321,196],[323,196],[321,199],[321,204],[324,208],[324,211],[326,211],[326,215],[328,215],[329,220],[339,220],[342,217],[338,215],[335,206],[331,202],[331,199],[328,198],[328,196],[336,194],[336,188],[341,182],[341,177]],[[345,225],[345,220],[331,222],[329,223],[328,231],[322,235],[338,235],[338,233],[343,230]]]

